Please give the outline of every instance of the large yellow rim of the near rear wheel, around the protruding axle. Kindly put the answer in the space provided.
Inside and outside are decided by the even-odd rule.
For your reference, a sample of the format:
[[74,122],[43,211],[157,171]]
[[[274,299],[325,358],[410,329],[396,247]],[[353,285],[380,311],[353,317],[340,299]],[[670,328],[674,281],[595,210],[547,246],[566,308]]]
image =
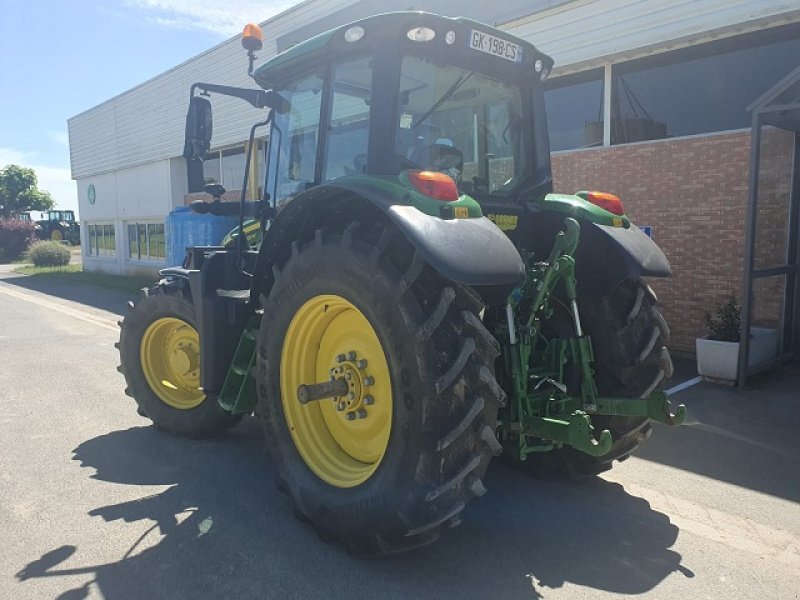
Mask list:
[[[301,404],[300,385],[347,381],[347,395]],[[389,365],[375,330],[341,296],[316,296],[295,314],[281,353],[281,401],[289,433],[323,481],[355,487],[378,468],[392,428]]]

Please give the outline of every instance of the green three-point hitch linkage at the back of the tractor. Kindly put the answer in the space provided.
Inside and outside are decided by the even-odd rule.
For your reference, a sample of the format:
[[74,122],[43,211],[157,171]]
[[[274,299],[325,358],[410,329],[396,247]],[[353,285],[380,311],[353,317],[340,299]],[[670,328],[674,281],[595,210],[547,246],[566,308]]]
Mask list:
[[[561,206],[572,203],[580,210],[573,197],[565,198]],[[580,198],[577,201],[584,202]],[[502,343],[503,368],[498,369],[497,375],[509,396],[508,406],[501,413],[498,436],[505,451],[520,461],[533,452],[547,452],[565,444],[592,456],[607,454],[613,438],[607,430],[595,434],[592,415],[648,417],[668,425],[680,425],[686,417],[683,405],[673,414],[669,399],[660,391],[643,399],[598,396],[591,339],[549,339],[543,334],[544,324],[554,314],[550,299],[557,286],[562,286],[567,307],[577,314],[577,304],[573,304],[577,280],[572,254],[580,241],[580,225],[568,217],[564,226],[546,261],[523,255],[527,276],[508,301],[513,311],[513,343],[508,323],[495,332]],[[524,321],[520,319],[523,306],[537,307]],[[574,322],[573,327],[577,330]],[[567,364],[577,366],[579,381],[570,382],[573,389],[567,385]]]

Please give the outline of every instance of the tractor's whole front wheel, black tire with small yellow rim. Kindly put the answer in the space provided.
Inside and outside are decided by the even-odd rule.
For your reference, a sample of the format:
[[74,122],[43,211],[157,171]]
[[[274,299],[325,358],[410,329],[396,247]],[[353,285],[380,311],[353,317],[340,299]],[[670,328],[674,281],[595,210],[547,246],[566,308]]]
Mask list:
[[[235,425],[241,416],[223,412],[217,397],[199,388],[199,337],[194,306],[183,280],[143,289],[120,323],[118,371],[140,415],[158,429],[206,437]],[[184,351],[182,348],[187,347]],[[169,355],[177,353],[171,368]],[[184,373],[184,371],[186,371]]]

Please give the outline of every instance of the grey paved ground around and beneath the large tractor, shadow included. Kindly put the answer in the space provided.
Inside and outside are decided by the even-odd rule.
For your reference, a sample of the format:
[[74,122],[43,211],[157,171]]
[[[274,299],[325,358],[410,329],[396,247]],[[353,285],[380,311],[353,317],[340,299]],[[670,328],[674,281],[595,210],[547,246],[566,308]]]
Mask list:
[[0,598],[798,597],[796,377],[683,392],[692,424],[600,479],[493,466],[441,542],[359,560],[292,518],[253,419],[208,442],[136,415],[124,305],[0,273]]

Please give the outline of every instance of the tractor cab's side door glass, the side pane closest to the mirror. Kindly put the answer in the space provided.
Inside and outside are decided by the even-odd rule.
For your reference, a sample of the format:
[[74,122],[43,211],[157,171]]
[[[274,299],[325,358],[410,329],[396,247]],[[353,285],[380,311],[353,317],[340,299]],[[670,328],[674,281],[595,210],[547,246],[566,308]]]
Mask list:
[[275,114],[270,146],[270,188],[279,207],[315,181],[322,85],[309,75],[280,91],[291,109]]

